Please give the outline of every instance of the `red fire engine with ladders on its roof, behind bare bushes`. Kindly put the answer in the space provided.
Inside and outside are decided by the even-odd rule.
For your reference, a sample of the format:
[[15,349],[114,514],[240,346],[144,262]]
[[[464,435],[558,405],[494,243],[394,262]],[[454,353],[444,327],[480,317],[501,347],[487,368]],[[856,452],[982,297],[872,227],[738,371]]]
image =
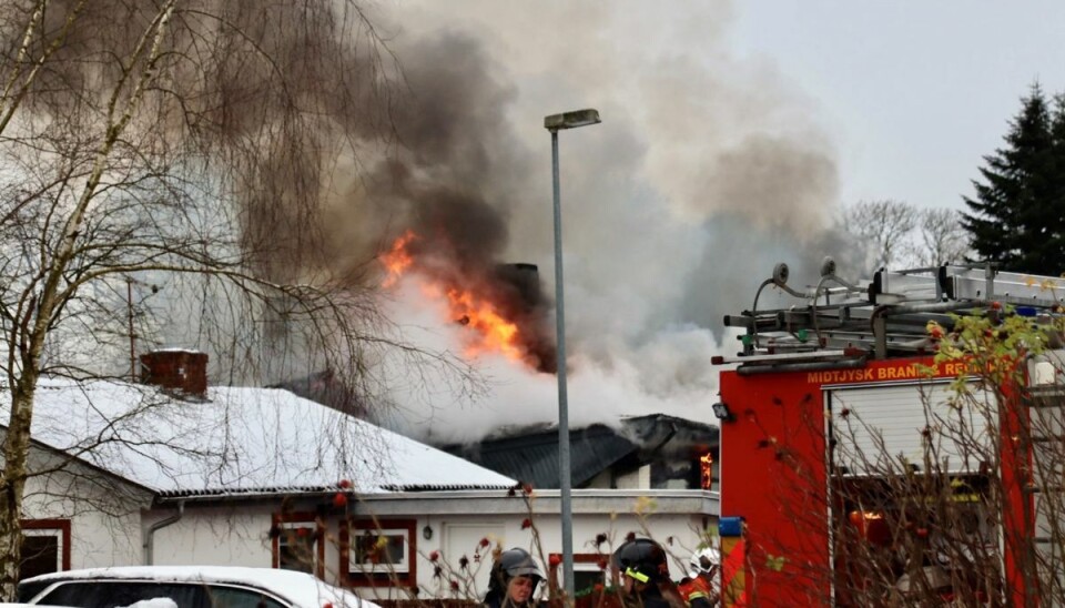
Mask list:
[[[963,318],[996,337],[1007,317],[1053,327],[1065,281],[982,264],[852,283],[829,259],[816,285],[788,278],[778,264],[726,316],[741,346],[714,357],[723,604],[1061,598],[1061,345],[1022,345],[1022,379],[1001,386],[972,357],[935,355]],[[793,302],[762,310],[767,288]]]

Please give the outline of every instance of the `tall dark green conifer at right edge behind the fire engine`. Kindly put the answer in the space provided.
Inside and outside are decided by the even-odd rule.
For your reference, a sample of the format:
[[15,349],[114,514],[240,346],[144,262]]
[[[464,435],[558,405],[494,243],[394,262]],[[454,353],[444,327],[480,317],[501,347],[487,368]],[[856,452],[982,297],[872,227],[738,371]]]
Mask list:
[[1065,115],[1036,83],[1010,123],[1004,148],[984,156],[983,181],[962,223],[972,247],[1003,270],[1058,275],[1065,271]]

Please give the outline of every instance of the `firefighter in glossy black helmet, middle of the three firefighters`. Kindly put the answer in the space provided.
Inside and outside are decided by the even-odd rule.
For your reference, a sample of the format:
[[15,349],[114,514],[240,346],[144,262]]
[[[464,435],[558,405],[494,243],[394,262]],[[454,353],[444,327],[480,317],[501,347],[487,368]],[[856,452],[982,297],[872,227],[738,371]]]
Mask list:
[[[621,577],[622,600],[635,608],[684,608],[687,604],[669,578],[666,550],[650,538],[626,541],[613,551],[613,566]],[[692,608],[710,608],[696,598]]]

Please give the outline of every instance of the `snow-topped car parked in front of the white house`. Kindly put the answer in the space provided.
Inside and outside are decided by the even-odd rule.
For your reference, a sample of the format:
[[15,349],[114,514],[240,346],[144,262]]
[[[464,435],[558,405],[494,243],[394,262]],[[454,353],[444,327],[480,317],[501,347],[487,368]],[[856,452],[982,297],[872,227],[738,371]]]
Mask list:
[[75,608],[378,608],[308,574],[234,566],[67,570],[19,582],[19,601]]

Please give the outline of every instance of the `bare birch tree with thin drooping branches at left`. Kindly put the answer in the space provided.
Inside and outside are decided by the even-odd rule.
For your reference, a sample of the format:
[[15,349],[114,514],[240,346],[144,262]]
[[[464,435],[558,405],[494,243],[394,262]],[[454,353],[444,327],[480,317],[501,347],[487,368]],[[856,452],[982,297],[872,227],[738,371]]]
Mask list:
[[226,377],[301,357],[369,395],[388,349],[463,373],[389,333],[323,221],[333,172],[384,160],[397,73],[353,0],[0,4],[0,599],[39,383],[129,377],[128,285],[168,281],[165,315]]

